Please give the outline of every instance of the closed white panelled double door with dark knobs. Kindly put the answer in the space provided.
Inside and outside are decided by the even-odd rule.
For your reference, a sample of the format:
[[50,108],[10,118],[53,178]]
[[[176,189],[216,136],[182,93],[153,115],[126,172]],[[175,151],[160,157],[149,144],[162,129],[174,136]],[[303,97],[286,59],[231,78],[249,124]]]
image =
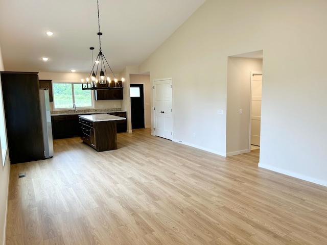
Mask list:
[[173,138],[173,87],[172,79],[153,81],[154,133]]

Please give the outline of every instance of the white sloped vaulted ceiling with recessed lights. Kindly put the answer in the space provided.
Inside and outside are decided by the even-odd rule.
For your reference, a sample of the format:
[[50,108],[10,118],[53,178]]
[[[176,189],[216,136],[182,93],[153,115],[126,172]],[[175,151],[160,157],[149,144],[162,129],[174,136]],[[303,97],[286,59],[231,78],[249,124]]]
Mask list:
[[[205,0],[99,0],[102,51],[115,73],[137,66]],[[54,34],[47,36],[51,31]],[[97,0],[0,1],[7,71],[90,72],[99,50]],[[48,61],[42,61],[48,57]]]

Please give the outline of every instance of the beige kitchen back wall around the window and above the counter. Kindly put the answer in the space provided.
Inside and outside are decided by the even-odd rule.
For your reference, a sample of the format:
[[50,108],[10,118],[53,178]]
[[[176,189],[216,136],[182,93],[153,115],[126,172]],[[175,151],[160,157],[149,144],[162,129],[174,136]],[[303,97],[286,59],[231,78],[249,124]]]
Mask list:
[[[73,73],[73,72],[39,72],[40,80],[52,80],[56,81],[67,81],[67,82],[81,82],[81,79],[85,79],[89,74]],[[119,78],[119,76],[116,76]],[[81,85],[82,86],[82,85]],[[92,91],[94,93],[94,91]],[[52,103],[51,107],[53,108]],[[95,109],[110,109],[110,108],[122,108],[121,100],[104,100],[94,101]]]

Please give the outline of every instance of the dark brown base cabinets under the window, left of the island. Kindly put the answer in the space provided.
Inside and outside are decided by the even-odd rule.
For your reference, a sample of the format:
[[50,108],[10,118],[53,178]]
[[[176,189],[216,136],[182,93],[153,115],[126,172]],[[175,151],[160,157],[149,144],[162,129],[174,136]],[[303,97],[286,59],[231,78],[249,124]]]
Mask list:
[[78,115],[51,116],[52,135],[54,139],[80,136]]

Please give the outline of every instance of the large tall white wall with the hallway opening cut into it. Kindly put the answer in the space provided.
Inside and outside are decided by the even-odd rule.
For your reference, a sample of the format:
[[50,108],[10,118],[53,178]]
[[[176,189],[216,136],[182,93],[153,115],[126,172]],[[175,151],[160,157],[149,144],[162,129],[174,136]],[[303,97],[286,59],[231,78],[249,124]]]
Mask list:
[[225,155],[227,57],[264,50],[260,166],[327,185],[326,9],[207,0],[139,67],[173,78],[174,139]]

